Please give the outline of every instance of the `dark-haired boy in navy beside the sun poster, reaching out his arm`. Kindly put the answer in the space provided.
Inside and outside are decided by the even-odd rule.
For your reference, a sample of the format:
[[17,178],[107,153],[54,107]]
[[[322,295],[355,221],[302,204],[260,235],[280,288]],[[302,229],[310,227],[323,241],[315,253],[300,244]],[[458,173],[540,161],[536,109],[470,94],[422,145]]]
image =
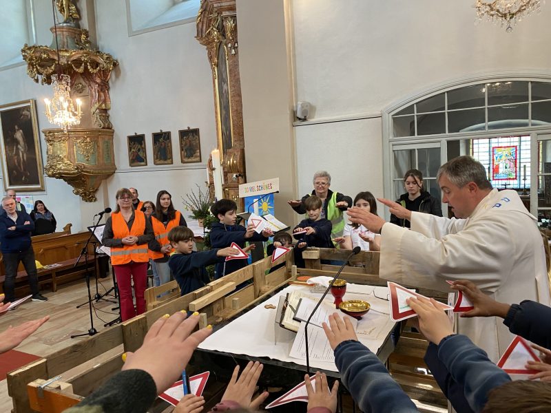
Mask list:
[[[237,204],[232,200],[222,199],[211,207],[212,215],[220,220],[211,227],[210,239],[212,248],[226,248],[232,242],[235,242],[241,248],[245,247],[245,242],[267,241],[273,233],[270,229],[264,229],[258,234],[254,226],[249,224],[245,226],[237,225]],[[247,266],[247,260],[231,260],[228,262],[219,262],[216,264],[215,278],[231,274],[240,268]]]

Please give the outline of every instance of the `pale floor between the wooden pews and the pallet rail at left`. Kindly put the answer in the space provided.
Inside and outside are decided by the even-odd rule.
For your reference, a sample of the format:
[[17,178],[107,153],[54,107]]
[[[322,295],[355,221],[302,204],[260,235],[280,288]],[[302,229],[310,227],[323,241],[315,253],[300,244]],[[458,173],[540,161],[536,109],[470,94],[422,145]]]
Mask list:
[[[112,287],[111,277],[99,279],[101,285],[98,286],[99,293],[105,293]],[[92,295],[96,293],[95,281],[90,286]],[[87,339],[87,335],[80,338],[71,339],[74,334],[87,333],[90,329],[90,310],[88,305],[76,308],[77,305],[85,303],[87,298],[87,288],[85,280],[75,282],[68,286],[62,286],[56,293],[41,291],[42,295],[48,297],[46,302],[27,301],[21,304],[16,310],[8,311],[6,315],[0,317],[0,331],[6,330],[10,325],[21,324],[25,321],[37,319],[45,315],[50,315],[50,320],[43,324],[39,330],[23,341],[15,350],[35,354],[40,357],[71,346],[76,340]],[[116,301],[114,297],[107,298]],[[98,332],[105,330],[103,324],[118,317],[118,310],[111,309],[116,306],[107,301],[93,301],[96,311],[92,308],[92,319],[94,328]],[[107,313],[105,313],[107,312]],[[122,346],[121,346],[122,347]],[[122,351],[116,349],[115,351]],[[110,354],[105,354],[107,357]],[[6,380],[0,381],[0,412],[10,412],[12,409],[12,399],[8,396]]]

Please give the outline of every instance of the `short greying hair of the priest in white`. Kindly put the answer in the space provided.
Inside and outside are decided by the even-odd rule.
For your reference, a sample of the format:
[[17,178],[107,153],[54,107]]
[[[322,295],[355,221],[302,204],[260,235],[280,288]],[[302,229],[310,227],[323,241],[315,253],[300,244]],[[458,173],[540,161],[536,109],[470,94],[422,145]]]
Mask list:
[[480,189],[492,189],[486,169],[471,156],[458,156],[448,160],[438,169],[436,180],[439,181],[442,175],[446,175],[446,178],[458,188],[463,188],[469,182],[475,182]]

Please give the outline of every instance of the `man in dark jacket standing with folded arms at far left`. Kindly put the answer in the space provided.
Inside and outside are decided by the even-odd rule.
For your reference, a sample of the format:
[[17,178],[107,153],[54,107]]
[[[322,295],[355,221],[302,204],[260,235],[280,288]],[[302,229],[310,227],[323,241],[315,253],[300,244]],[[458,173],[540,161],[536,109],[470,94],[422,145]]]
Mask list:
[[48,301],[39,293],[37,265],[34,262],[34,251],[30,240],[34,223],[28,213],[17,211],[15,200],[9,196],[3,198],[2,208],[6,211],[5,214],[0,215],[0,249],[6,267],[4,302],[12,302],[15,299],[15,277],[17,277],[19,262],[23,262],[27,271],[32,301]]

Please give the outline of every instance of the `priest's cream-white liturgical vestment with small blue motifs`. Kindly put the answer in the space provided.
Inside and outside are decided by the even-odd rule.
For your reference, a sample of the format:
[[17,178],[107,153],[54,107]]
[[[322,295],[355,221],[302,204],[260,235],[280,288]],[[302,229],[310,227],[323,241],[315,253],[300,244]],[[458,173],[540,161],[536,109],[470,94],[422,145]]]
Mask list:
[[[549,305],[543,241],[516,191],[493,189],[466,220],[412,212],[411,231],[385,224],[380,258],[380,277],[399,284],[450,293],[446,279],[469,279],[502,303]],[[514,337],[497,317],[459,317],[456,328],[495,362]]]

